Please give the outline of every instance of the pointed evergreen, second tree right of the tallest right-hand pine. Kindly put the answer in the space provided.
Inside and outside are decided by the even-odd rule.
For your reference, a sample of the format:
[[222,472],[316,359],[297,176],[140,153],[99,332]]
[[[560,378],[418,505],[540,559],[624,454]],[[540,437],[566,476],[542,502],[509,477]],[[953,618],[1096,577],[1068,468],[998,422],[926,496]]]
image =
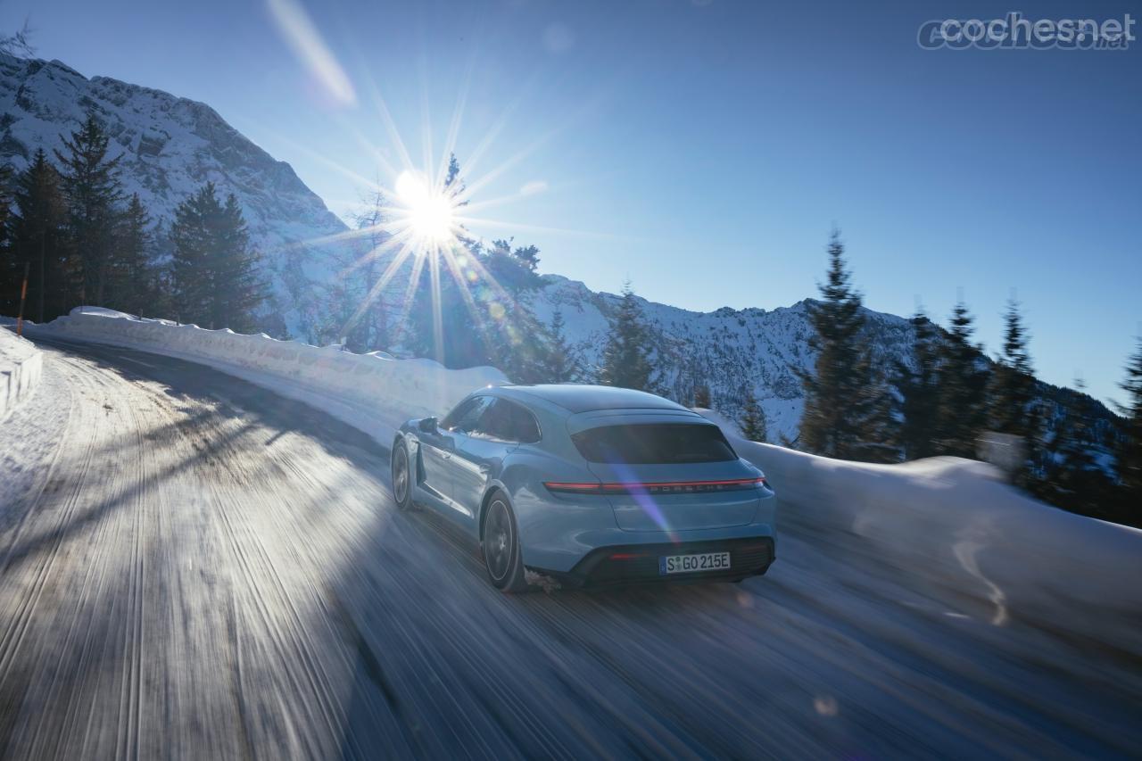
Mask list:
[[972,343],[973,322],[967,305],[958,302],[940,350],[935,442],[941,455],[975,457],[987,419],[988,370],[981,349]]

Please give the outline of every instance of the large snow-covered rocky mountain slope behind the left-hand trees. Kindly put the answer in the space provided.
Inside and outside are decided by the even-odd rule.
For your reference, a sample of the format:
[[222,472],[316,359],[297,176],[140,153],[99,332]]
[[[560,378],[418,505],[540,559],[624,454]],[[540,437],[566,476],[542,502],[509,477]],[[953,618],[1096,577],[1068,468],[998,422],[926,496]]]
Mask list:
[[0,160],[21,170],[37,149],[53,158],[88,113],[104,122],[111,155],[122,157],[127,193],[139,194],[156,225],[207,181],[220,195],[238,197],[273,286],[268,323],[306,336],[328,243],[300,243],[346,226],[293,169],[206,104],[107,77],[88,79],[58,61],[0,54]]

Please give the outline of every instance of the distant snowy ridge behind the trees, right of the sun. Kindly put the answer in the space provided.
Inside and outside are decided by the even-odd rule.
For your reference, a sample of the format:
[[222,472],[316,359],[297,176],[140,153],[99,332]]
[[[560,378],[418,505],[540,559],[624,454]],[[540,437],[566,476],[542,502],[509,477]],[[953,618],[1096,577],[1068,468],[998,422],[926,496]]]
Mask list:
[[[537,317],[550,322],[556,309],[566,320],[566,335],[586,363],[595,367],[606,344],[605,314],[619,296],[588,289],[584,283],[547,275],[533,299]],[[719,309],[690,312],[640,299],[656,337],[661,383],[675,399],[686,401],[695,384],[710,387],[715,409],[735,412],[753,388],[769,422],[771,441],[794,440],[804,408],[796,370],[811,369],[815,354],[809,346],[812,326],[806,302],[772,311]],[[911,362],[911,326],[894,314],[866,310],[869,343],[884,363]]]

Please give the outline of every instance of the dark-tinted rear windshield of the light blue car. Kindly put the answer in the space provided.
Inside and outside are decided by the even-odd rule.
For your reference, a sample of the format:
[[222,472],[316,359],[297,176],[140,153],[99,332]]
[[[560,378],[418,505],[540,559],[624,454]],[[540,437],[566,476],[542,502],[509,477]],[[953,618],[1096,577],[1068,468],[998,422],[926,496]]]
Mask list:
[[590,463],[671,465],[724,463],[738,459],[716,425],[652,423],[606,425],[571,436],[579,454]]

